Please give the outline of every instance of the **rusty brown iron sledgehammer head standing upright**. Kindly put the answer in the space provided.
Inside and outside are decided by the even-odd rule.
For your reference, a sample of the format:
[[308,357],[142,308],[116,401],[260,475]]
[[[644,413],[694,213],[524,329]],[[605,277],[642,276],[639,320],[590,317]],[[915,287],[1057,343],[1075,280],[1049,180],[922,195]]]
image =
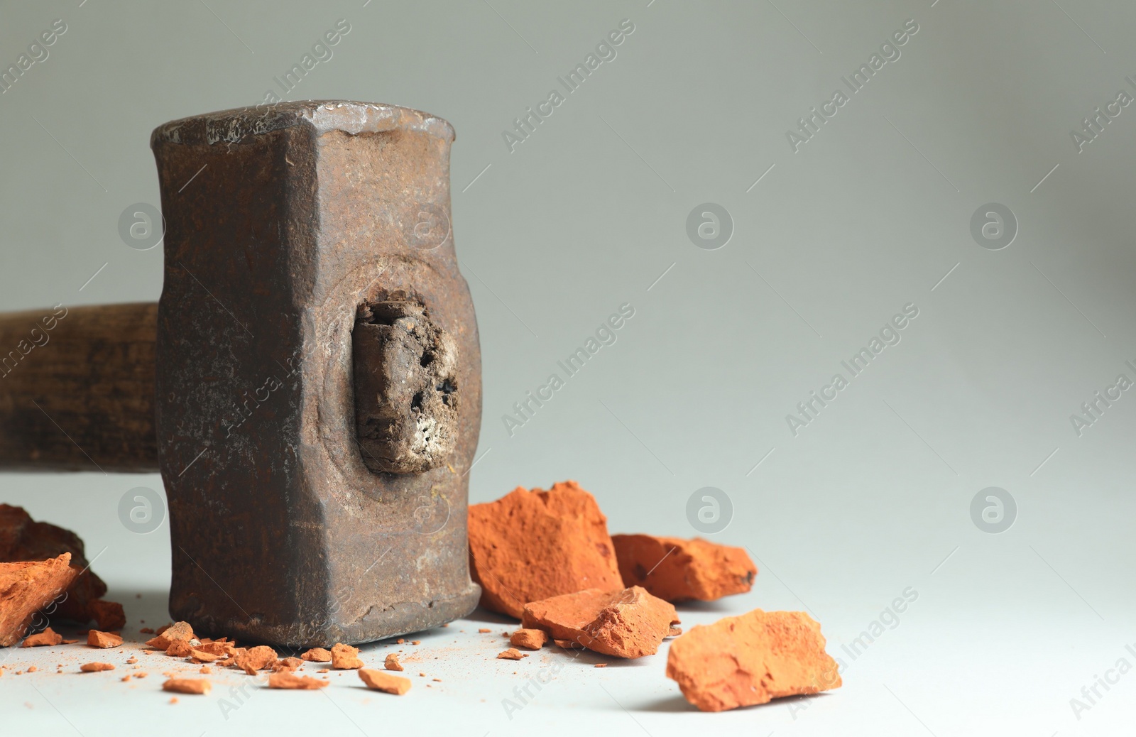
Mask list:
[[469,613],[481,422],[450,124],[321,101],[158,127],[170,614],[276,645]]

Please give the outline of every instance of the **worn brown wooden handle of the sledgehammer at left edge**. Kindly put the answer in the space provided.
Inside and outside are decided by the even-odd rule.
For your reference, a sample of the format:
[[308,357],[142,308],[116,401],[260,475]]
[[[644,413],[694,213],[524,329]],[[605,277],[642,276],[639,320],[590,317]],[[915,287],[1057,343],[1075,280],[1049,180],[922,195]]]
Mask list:
[[0,316],[0,469],[157,471],[158,304]]

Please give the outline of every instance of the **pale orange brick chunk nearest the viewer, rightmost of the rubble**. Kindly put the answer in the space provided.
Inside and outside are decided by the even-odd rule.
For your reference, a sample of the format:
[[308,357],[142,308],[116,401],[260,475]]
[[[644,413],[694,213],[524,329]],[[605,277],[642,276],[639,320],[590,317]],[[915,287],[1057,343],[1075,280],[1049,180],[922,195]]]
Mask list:
[[763,704],[841,686],[820,625],[805,612],[755,609],[694,627],[670,644],[667,678],[702,711]]

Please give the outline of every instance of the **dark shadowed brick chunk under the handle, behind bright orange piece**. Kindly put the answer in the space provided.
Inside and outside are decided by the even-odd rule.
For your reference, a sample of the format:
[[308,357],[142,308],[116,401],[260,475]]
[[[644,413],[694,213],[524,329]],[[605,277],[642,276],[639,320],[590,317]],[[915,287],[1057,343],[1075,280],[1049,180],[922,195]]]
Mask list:
[[[91,605],[107,593],[107,585],[90,569],[78,535],[48,522],[36,522],[20,506],[0,504],[0,562],[41,561],[62,553],[70,553],[70,567],[76,576],[52,618],[80,623],[98,619]],[[108,619],[99,622],[99,629],[122,629],[125,623],[124,619],[115,626],[114,620]]]

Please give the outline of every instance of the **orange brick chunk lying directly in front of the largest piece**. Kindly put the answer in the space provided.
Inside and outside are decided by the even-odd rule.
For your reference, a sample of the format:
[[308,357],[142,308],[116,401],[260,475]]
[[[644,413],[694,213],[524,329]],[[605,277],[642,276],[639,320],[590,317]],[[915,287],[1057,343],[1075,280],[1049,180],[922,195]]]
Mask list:
[[575,640],[616,658],[653,655],[677,621],[674,604],[638,586],[590,588],[529,602],[521,618],[527,629],[543,629],[553,639]]

